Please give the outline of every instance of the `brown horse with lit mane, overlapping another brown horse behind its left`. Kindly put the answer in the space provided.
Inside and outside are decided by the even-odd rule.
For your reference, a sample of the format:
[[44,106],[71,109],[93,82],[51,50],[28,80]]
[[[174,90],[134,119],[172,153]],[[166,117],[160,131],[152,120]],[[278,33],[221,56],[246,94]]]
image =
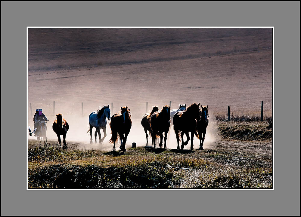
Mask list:
[[154,112],[151,115],[151,136],[154,141],[154,148],[156,148],[156,137],[160,136],[159,146],[163,145],[163,132],[164,132],[164,148],[166,148],[167,133],[170,126],[170,107],[163,106],[160,112]]

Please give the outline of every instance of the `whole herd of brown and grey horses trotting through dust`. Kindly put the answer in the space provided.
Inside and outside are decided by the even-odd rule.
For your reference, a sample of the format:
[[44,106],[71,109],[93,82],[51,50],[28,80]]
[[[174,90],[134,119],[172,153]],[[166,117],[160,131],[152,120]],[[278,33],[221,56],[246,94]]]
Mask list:
[[[201,108],[200,108],[201,106]],[[130,129],[132,127],[131,112],[129,107],[120,107],[121,111],[115,113],[110,117],[110,105],[103,106],[98,108],[97,111],[92,112],[89,115],[89,129],[90,133],[90,143],[92,144],[92,129],[95,130],[95,143],[97,134],[99,136],[99,143],[104,141],[104,138],[107,136],[107,119],[110,121],[109,125],[112,131],[112,137],[110,143],[113,143],[113,151],[115,151],[115,143],[120,140],[120,150],[126,151],[126,139],[129,135]],[[189,140],[191,141],[190,149],[193,149],[193,139],[194,135],[200,139],[200,150],[203,150],[203,144],[206,134],[206,128],[208,126],[208,105],[203,106],[196,103],[190,104],[186,108],[185,105],[179,105],[178,109],[170,110],[168,105],[165,105],[161,108],[153,106],[151,112],[143,115],[141,120],[141,125],[144,128],[146,136],[146,145],[148,145],[148,137],[152,138],[153,148],[156,148],[156,139],[160,138],[159,146],[163,146],[163,132],[164,132],[164,148],[166,146],[167,135],[170,133],[170,128],[173,125],[173,130],[177,138],[177,149],[180,149],[179,141],[182,142],[181,148],[183,149],[185,145],[188,144]],[[59,113],[56,115],[56,119],[53,122],[52,129],[57,134],[59,145],[61,147],[61,135],[63,135],[63,148],[67,149],[66,134],[69,129],[67,121],[62,118],[62,114]],[[103,129],[104,136],[101,138],[100,130]],[[149,133],[147,133],[147,131]],[[31,131],[29,129],[30,136]],[[189,136],[190,133],[190,136]],[[186,135],[187,140],[184,142],[183,136]],[[181,137],[181,138],[180,138]],[[42,138],[42,137],[41,137]],[[45,138],[44,138],[45,139]]]

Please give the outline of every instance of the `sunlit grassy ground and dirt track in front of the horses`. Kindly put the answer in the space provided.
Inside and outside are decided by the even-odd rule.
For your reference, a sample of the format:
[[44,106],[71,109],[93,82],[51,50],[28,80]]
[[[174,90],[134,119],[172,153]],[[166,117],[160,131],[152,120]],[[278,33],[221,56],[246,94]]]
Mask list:
[[204,151],[126,152],[56,144],[29,140],[28,188],[272,188],[271,142],[222,140]]

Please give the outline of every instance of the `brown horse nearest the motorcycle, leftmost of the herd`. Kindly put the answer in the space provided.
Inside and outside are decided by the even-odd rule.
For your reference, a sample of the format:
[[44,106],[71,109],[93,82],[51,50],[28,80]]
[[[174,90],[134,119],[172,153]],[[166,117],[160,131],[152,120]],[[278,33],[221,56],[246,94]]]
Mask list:
[[52,124],[52,130],[57,134],[58,142],[60,143],[61,148],[61,135],[63,135],[63,149],[67,149],[66,134],[69,130],[69,124],[64,118],[62,118],[61,113],[56,115],[56,119]]

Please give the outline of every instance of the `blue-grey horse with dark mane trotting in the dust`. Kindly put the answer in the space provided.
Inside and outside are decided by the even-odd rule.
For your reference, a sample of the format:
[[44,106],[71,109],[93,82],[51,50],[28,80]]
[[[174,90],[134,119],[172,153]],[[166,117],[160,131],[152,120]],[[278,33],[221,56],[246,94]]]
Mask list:
[[[107,125],[107,120],[106,118],[108,118],[108,120],[110,121],[111,119],[111,111],[110,111],[110,105],[105,106],[104,107],[99,107],[97,109],[97,111],[92,112],[89,115],[89,129],[88,132],[90,132],[90,144],[92,144],[92,129],[93,127],[96,128],[95,130],[95,143],[96,143],[96,136],[98,133],[99,136],[99,143],[102,143],[104,141],[104,138],[107,136],[107,129],[106,129],[106,125]],[[104,137],[101,139],[101,134],[100,134],[100,129],[102,129],[104,131]]]

